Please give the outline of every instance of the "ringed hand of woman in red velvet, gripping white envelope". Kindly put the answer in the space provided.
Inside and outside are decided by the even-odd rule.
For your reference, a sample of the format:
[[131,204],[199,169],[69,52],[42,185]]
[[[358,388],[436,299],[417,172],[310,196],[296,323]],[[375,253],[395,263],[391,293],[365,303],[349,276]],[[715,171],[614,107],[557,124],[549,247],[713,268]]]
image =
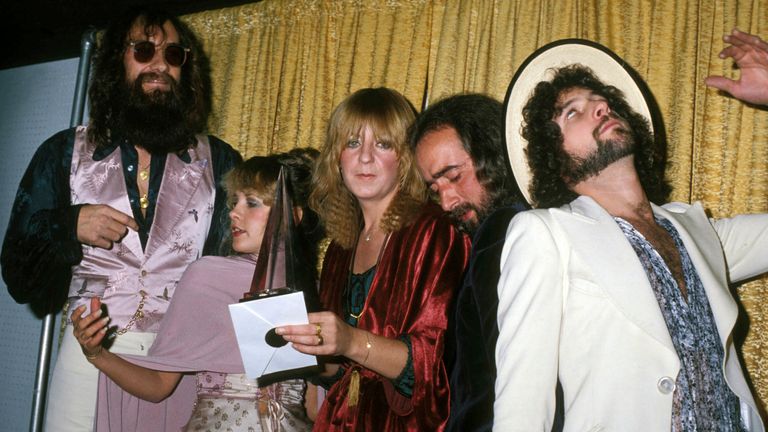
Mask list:
[[275,333],[304,354],[349,357],[354,329],[333,312],[307,315],[309,324],[282,326]]

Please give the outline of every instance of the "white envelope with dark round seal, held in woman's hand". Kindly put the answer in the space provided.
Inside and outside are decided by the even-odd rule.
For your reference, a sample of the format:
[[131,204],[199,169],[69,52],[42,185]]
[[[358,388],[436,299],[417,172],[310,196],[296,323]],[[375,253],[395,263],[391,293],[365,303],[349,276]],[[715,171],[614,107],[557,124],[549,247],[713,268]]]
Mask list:
[[263,375],[317,366],[317,358],[293,349],[275,348],[265,336],[277,326],[307,324],[304,293],[292,292],[229,305],[245,374],[258,380]]

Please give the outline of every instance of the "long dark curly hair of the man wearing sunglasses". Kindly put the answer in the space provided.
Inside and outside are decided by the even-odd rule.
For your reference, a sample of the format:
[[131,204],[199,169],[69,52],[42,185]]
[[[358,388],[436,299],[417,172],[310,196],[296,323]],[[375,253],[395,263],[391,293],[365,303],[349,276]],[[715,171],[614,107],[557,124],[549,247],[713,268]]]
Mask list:
[[205,129],[210,111],[210,65],[194,33],[175,16],[153,8],[131,9],[113,21],[99,39],[93,59],[88,138],[97,145],[109,142],[124,104],[126,74],[123,55],[134,24],[144,26],[147,35],[162,31],[170,22],[179,34],[179,43],[190,49],[181,69],[179,92],[186,125],[192,133]]

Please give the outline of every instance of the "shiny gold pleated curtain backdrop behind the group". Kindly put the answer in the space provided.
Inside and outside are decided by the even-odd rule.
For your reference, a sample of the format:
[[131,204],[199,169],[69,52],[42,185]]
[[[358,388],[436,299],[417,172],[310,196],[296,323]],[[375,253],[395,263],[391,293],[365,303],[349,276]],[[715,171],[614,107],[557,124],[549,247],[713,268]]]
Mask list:
[[[319,147],[333,107],[387,86],[417,108],[460,92],[503,100],[516,68],[562,38],[599,42],[658,102],[676,201],[712,217],[768,212],[768,111],[704,86],[734,27],[768,39],[768,0],[264,0],[184,17],[212,68],[209,129],[243,156]],[[768,252],[768,251],[767,251]],[[768,402],[768,278],[735,287],[742,353]]]

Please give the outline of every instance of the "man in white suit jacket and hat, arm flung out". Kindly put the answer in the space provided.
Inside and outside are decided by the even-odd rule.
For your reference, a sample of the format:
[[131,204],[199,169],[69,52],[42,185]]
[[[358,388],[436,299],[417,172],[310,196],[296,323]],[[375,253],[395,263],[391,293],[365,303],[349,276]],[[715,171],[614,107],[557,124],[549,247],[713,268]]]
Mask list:
[[[768,104],[768,45],[740,32],[726,41],[742,82],[708,84]],[[559,378],[565,431],[763,431],[733,346],[729,284],[768,271],[768,215],[714,221],[698,203],[652,204],[668,187],[650,109],[616,60],[557,42],[510,86],[510,162],[540,209],[512,220],[502,252],[494,430],[548,431]],[[679,342],[693,324],[676,311],[694,305],[708,346]]]

